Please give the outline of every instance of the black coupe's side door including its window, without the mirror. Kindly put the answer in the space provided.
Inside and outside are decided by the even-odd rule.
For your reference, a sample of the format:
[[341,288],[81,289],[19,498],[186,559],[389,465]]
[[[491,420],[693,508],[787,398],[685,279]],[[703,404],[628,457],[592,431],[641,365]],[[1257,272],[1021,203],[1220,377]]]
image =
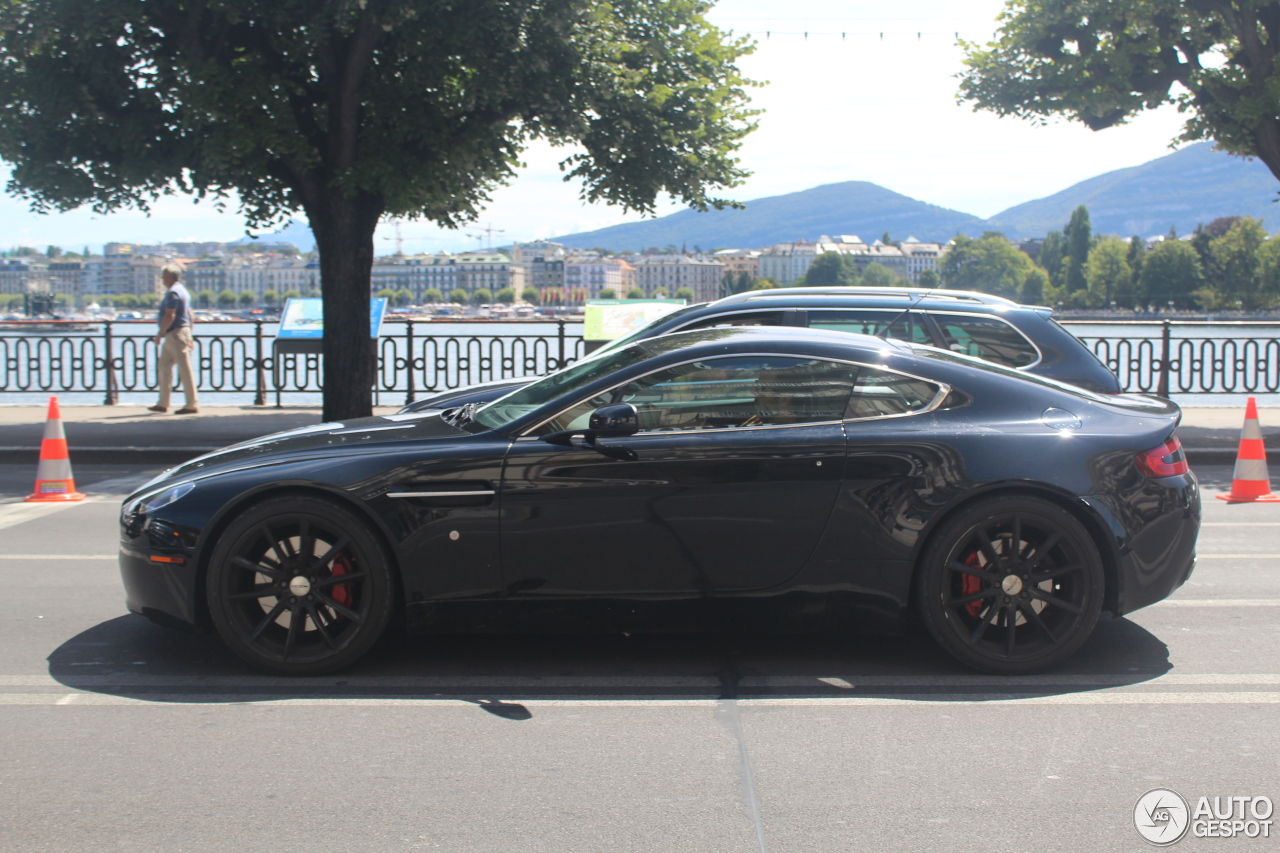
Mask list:
[[[858,368],[792,356],[685,362],[579,401],[520,438],[502,478],[511,596],[762,589],[796,574],[840,489]],[[541,441],[630,402],[641,430]]]

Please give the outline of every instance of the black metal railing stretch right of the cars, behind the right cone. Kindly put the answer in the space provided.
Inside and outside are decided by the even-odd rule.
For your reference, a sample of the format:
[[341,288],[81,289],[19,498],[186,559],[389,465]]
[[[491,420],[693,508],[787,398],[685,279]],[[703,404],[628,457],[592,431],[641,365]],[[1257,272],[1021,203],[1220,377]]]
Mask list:
[[[1125,327],[1123,336],[1078,337],[1128,392],[1161,397],[1280,392],[1280,323],[1103,320],[1062,325],[1068,330],[1073,325]],[[1139,334],[1133,333],[1134,327]]]

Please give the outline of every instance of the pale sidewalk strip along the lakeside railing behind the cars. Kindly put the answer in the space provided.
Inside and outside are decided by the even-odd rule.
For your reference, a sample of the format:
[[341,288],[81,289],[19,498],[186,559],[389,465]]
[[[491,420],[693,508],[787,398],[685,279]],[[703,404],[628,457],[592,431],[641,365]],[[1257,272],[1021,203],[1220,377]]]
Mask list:
[[[380,406],[374,414],[398,410]],[[180,416],[142,406],[63,406],[61,411],[73,462],[175,465],[219,447],[320,423],[319,406],[209,406]],[[45,414],[45,406],[0,405],[0,461],[36,464]],[[1258,415],[1268,456],[1280,461],[1280,406],[1261,407]],[[1243,406],[1188,406],[1178,435],[1193,462],[1230,464],[1243,423]]]

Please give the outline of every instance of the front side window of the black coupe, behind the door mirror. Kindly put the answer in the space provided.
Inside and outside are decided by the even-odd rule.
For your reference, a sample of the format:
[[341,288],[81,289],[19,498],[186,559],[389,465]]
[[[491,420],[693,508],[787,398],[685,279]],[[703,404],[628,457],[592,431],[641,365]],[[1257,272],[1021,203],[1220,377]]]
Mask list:
[[552,419],[539,434],[582,429],[600,406],[628,402],[641,432],[841,420],[859,368],[791,356],[707,359],[652,373]]

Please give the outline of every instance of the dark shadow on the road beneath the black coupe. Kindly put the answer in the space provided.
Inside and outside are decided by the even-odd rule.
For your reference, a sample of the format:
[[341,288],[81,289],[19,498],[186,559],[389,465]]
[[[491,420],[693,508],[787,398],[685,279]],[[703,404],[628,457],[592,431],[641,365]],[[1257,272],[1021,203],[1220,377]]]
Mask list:
[[262,675],[215,637],[122,616],[49,656],[59,684],[169,703],[255,701],[466,701],[527,719],[529,699],[751,699],[879,697],[989,701],[1134,685],[1171,669],[1160,638],[1103,619],[1065,666],[989,676],[947,657],[920,630],[840,634],[479,634],[384,639],[343,672]]

